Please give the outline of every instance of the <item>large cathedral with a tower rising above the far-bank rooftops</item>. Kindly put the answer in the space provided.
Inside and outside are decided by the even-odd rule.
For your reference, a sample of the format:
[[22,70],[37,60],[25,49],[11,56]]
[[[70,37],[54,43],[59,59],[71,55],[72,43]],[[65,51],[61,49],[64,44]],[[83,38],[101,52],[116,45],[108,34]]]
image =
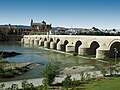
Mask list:
[[52,29],[51,24],[47,24],[45,21],[41,23],[34,23],[33,19],[31,19],[31,28],[37,29],[37,34],[47,34]]

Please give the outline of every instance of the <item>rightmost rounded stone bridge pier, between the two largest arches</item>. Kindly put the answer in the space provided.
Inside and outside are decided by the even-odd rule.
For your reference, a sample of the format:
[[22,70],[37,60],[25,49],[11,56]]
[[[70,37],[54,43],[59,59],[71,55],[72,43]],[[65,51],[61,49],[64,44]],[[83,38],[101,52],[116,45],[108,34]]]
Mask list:
[[98,48],[96,51],[96,59],[104,59],[106,57],[109,57],[109,50]]

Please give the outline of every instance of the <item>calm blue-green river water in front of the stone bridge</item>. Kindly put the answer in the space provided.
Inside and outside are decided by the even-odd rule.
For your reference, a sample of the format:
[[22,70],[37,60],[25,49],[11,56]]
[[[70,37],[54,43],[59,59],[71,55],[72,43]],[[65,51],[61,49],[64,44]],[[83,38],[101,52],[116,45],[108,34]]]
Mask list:
[[96,69],[100,69],[102,67],[109,66],[107,63],[99,62],[95,59],[90,59],[90,57],[79,57],[73,56],[67,53],[58,52],[57,50],[45,49],[42,47],[34,47],[34,46],[25,46],[19,43],[9,43],[2,42],[0,43],[0,51],[15,51],[22,53],[22,55],[18,55],[15,57],[6,58],[11,62],[34,62],[39,64],[34,69],[24,73],[23,75],[10,78],[10,79],[2,79],[0,81],[10,81],[10,80],[23,80],[30,78],[40,78],[41,71],[45,64],[50,62],[51,60],[60,61],[64,67],[70,66],[94,66]]

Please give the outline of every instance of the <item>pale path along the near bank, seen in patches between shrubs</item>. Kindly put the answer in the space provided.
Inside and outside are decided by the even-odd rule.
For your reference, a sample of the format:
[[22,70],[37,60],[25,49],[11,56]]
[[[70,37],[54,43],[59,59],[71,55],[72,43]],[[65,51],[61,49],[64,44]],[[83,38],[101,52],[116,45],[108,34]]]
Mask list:
[[[89,72],[89,73],[94,75],[93,72]],[[98,77],[101,77],[101,76],[102,76],[102,74],[100,74]],[[65,79],[65,77],[66,77],[66,75],[61,75],[59,77],[55,77],[55,81],[53,82],[53,84],[62,83],[62,81]],[[72,80],[81,80],[80,74],[71,75],[71,78],[72,78]],[[37,86],[43,85],[43,83],[42,83],[43,79],[44,78],[34,78],[34,79],[26,79],[26,80],[28,83],[32,83],[35,87],[37,87]],[[22,82],[23,82],[23,80],[8,81],[8,82],[1,82],[0,85],[2,85],[4,83],[4,85],[5,85],[4,89],[11,87],[12,84],[17,84],[18,88],[22,88]]]

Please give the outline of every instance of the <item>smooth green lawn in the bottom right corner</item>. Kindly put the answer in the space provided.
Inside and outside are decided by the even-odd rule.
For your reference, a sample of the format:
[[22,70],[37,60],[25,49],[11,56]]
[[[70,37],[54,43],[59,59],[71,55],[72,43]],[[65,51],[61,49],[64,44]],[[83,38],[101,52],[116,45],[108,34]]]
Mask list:
[[119,84],[120,77],[109,77],[86,85],[86,90],[120,90]]

